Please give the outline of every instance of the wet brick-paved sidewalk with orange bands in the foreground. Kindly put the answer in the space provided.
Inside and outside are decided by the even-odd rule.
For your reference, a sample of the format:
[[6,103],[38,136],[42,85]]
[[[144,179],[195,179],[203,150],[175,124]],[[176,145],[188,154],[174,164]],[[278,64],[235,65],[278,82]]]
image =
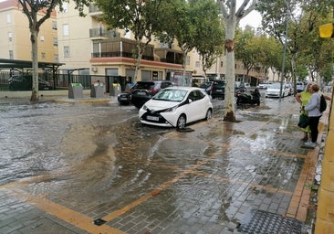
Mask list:
[[[92,119],[93,114],[92,108]],[[48,175],[0,185],[0,233],[307,231],[312,228],[308,211],[313,208],[309,186],[326,139],[326,114],[318,136],[322,144],[315,150],[300,147],[293,97],[282,103],[269,100],[262,109],[239,110],[240,122],[218,117],[193,124],[193,132],[164,133],[151,145],[145,166],[139,167],[138,176],[147,172],[144,186],[133,184],[125,196],[117,196],[117,187],[135,177],[113,182],[112,189],[97,190],[89,200],[62,190],[40,193],[29,186],[47,184]],[[142,145],[132,144],[138,149]],[[136,154],[132,157],[139,160]],[[119,158],[120,170],[133,163]],[[64,175],[57,176],[59,183],[67,182]]]

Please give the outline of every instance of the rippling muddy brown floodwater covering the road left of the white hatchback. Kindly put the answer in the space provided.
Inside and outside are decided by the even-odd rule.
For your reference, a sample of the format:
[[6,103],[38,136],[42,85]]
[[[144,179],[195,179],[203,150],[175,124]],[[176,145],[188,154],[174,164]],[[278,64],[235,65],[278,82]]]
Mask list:
[[[38,193],[60,189],[82,197],[108,190],[123,177],[124,163],[116,165],[117,160],[140,174],[137,165],[148,160],[166,130],[142,131],[137,114],[117,103],[1,106],[0,184],[26,181]],[[122,179],[129,179],[128,173]],[[131,178],[133,184],[136,176],[141,175]]]

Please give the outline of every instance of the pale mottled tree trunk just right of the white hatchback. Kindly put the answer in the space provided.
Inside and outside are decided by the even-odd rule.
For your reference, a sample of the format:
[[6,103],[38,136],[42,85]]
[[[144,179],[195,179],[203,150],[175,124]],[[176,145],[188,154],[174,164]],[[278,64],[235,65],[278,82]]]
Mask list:
[[235,16],[226,19],[225,112],[224,121],[235,122]]

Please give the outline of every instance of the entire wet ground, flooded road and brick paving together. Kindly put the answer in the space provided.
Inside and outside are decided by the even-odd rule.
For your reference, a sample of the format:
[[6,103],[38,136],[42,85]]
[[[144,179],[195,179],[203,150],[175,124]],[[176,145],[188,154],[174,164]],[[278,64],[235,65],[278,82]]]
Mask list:
[[239,107],[238,122],[214,107],[177,132],[114,100],[0,101],[0,233],[291,233],[270,226],[282,218],[308,229],[321,144],[300,147],[294,97]]

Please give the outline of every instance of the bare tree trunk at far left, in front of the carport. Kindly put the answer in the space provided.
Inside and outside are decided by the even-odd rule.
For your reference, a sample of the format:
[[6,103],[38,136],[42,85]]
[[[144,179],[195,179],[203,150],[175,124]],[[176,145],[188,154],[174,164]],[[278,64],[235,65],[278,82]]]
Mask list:
[[35,29],[36,27],[30,28],[30,41],[32,48],[32,63],[33,63],[33,76],[32,76],[32,93],[30,101],[37,102],[39,100],[38,95],[38,31]]

